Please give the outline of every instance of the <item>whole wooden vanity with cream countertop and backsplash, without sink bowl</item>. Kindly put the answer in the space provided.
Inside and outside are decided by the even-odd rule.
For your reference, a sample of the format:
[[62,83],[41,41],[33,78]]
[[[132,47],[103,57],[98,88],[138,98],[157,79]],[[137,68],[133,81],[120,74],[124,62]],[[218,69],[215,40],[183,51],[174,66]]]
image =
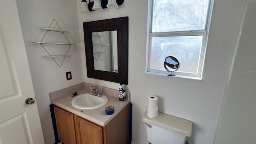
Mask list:
[[[88,88],[89,84],[81,83],[50,94],[59,140],[65,144],[128,144],[130,93],[127,92],[128,100],[122,102],[118,90],[94,85],[108,97],[104,106],[89,110],[72,106],[72,92],[84,94]],[[114,107],[114,114],[105,113],[107,106]]]

